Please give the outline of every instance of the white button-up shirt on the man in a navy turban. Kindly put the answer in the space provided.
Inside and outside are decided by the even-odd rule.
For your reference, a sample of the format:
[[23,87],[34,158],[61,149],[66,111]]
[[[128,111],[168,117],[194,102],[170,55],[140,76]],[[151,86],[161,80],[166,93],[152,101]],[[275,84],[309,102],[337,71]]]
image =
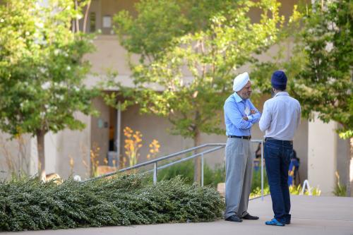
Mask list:
[[265,137],[277,140],[293,140],[300,124],[301,108],[298,100],[288,92],[277,92],[275,97],[263,104],[259,126]]

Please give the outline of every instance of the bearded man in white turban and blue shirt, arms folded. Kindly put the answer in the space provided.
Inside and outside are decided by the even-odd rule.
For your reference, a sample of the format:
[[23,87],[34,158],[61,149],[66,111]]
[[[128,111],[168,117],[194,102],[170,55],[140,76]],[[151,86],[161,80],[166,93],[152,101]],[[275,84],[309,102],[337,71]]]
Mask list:
[[253,150],[251,126],[261,117],[253,106],[251,82],[248,73],[234,78],[234,94],[225,101],[225,126],[228,136],[225,149],[225,220],[242,222],[243,219],[258,219],[247,212],[253,174]]

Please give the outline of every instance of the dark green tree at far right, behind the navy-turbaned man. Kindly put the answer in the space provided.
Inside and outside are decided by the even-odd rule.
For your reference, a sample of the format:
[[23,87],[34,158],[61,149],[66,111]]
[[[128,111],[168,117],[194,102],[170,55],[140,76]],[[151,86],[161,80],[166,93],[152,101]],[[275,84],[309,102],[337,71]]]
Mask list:
[[292,34],[292,58],[258,64],[253,75],[268,79],[274,69],[285,68],[293,78],[289,90],[301,103],[303,115],[312,119],[317,112],[324,122],[340,123],[337,132],[340,138],[350,138],[352,161],[353,2],[316,1],[293,16],[289,30],[297,33]]

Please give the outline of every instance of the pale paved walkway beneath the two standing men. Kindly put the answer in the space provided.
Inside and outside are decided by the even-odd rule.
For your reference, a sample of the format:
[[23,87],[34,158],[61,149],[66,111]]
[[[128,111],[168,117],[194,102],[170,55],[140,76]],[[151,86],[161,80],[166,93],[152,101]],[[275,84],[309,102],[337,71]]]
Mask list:
[[292,224],[285,227],[271,227],[264,224],[273,217],[270,196],[249,203],[251,215],[260,217],[257,221],[242,223],[219,220],[209,223],[153,224],[132,227],[101,227],[88,229],[66,229],[46,231],[23,231],[5,234],[21,235],[234,235],[234,234],[347,234],[353,235],[353,198],[292,196]]

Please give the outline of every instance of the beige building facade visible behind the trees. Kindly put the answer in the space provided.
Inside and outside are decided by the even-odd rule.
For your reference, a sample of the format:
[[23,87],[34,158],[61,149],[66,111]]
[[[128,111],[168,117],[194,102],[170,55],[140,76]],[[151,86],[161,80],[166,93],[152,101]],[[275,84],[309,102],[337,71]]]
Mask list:
[[[130,11],[136,15],[133,4],[137,1],[114,1],[114,0],[92,0],[88,13],[88,32],[101,31],[94,41],[96,51],[88,54],[85,58],[92,64],[92,73],[85,83],[96,85],[104,79],[107,71],[118,71],[117,77],[124,85],[132,85],[131,71],[128,68],[127,52],[119,44],[112,28],[114,14],[121,10]],[[281,1],[281,13],[286,17],[292,13],[292,8],[297,1]],[[256,18],[256,16],[253,16]],[[82,25],[82,24],[81,24]],[[288,42],[290,48],[292,42]],[[273,53],[277,47],[270,49]],[[290,56],[289,52],[286,52]],[[266,55],[262,59],[268,59]],[[134,55],[133,59],[138,60]],[[245,71],[244,66],[240,70]],[[241,72],[239,70],[239,72]],[[290,79],[290,78],[289,78]],[[268,80],[270,82],[270,78]],[[109,89],[107,89],[109,92]],[[230,95],[230,94],[229,94]],[[263,108],[263,102],[268,97],[263,96],[258,101],[259,110]],[[123,100],[121,100],[123,101]],[[172,152],[178,152],[193,147],[193,140],[171,135],[168,132],[170,124],[167,119],[153,115],[140,115],[138,106],[129,107],[124,112],[109,107],[104,103],[102,97],[93,100],[95,108],[100,116],[85,116],[77,114],[77,118],[86,124],[83,131],[64,130],[59,133],[48,133],[45,137],[46,171],[47,174],[57,173],[63,178],[71,174],[78,174],[87,178],[91,170],[91,156],[95,155],[99,164],[104,164],[108,155],[114,156],[113,152],[124,155],[123,129],[128,126],[134,131],[143,134],[143,147],[140,149],[139,162],[144,162],[148,154],[148,145],[153,139],[160,142],[158,157]],[[223,125],[224,126],[224,125]],[[299,175],[301,182],[309,179],[311,186],[319,186],[323,195],[332,194],[337,183],[335,171],[341,176],[341,182],[348,180],[349,168],[349,143],[347,140],[338,138],[335,129],[337,123],[322,123],[319,120],[301,121],[299,130],[294,137],[294,150],[301,160]],[[262,139],[263,133],[258,125],[253,128],[253,139]],[[19,166],[26,169],[29,174],[37,172],[36,140],[25,135],[23,140],[7,140],[8,135],[1,133],[0,149],[0,171],[3,176],[8,176],[9,171],[16,171]],[[113,146],[110,144],[115,143]],[[201,135],[201,143],[225,143],[225,135]],[[116,144],[119,143],[119,144]],[[119,150],[117,149],[119,146]],[[254,144],[254,150],[257,145]],[[110,153],[109,153],[110,152]],[[12,162],[15,163],[11,163]],[[210,165],[224,162],[224,152],[215,152],[205,157]],[[1,176],[0,174],[0,176]]]

